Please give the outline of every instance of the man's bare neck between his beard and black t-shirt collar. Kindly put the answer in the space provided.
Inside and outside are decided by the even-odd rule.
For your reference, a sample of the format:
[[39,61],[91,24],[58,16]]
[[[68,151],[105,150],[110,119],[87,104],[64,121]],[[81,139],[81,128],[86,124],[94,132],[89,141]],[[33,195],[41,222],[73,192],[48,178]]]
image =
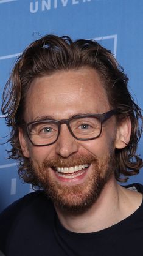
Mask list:
[[106,183],[99,199],[86,211],[70,214],[55,206],[61,224],[72,232],[90,233],[111,227],[130,216],[142,195],[119,186],[114,178]]

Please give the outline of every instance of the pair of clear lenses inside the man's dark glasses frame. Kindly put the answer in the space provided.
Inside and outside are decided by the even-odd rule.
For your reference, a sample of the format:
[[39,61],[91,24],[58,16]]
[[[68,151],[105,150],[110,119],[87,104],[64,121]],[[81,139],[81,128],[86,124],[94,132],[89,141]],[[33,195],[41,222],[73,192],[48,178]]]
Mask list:
[[[100,119],[96,117],[84,117],[71,119],[69,122],[70,132],[79,139],[98,137],[101,131]],[[35,145],[53,143],[58,136],[57,122],[35,122],[29,124],[28,133],[30,140]]]

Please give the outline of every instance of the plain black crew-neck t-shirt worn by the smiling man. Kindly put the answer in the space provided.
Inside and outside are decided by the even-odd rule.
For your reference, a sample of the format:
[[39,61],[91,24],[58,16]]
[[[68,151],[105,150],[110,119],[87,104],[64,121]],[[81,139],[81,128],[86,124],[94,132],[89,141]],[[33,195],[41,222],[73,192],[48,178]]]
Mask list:
[[[143,192],[140,184],[130,186]],[[142,256],[143,203],[109,228],[74,233],[60,224],[44,192],[33,192],[1,214],[0,249],[6,256]]]

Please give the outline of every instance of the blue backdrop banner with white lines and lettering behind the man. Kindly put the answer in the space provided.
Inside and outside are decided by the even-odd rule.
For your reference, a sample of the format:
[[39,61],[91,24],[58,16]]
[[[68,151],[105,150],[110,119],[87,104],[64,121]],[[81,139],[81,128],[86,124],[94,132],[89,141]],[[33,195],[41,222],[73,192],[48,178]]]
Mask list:
[[[16,57],[45,34],[96,39],[111,50],[129,77],[129,88],[143,108],[142,0],[0,0],[0,105]],[[9,129],[0,113],[0,211],[32,192],[18,178],[17,163],[6,159]],[[138,153],[143,157],[142,139]],[[143,183],[143,170],[128,183]]]

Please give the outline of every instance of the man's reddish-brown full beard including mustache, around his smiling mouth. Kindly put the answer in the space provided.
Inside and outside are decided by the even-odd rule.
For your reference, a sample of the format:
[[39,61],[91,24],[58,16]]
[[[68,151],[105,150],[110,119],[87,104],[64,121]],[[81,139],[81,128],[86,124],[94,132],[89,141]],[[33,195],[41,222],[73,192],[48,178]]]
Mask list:
[[[116,170],[114,159],[114,152],[110,150],[108,156],[102,158],[91,154],[71,156],[68,159],[57,156],[45,159],[41,165],[31,160],[30,166],[37,183],[51,198],[55,207],[60,208],[61,211],[78,214],[86,211],[99,198],[105,184]],[[86,174],[88,176],[86,176],[85,181],[76,185],[61,184],[55,179],[54,170],[48,170],[49,167],[54,169],[54,167],[71,167],[81,164],[89,164],[91,170]]]

